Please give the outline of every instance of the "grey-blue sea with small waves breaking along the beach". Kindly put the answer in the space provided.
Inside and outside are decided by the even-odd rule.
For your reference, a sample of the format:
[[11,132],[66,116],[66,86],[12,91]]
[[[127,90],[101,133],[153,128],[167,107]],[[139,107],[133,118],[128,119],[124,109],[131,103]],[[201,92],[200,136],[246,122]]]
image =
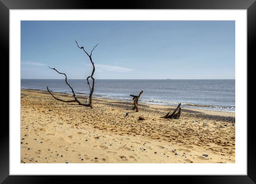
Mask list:
[[[87,95],[86,80],[68,80],[75,93]],[[65,80],[22,79],[22,89],[72,93]],[[143,90],[141,102],[235,112],[235,80],[95,80],[94,96],[131,101]]]

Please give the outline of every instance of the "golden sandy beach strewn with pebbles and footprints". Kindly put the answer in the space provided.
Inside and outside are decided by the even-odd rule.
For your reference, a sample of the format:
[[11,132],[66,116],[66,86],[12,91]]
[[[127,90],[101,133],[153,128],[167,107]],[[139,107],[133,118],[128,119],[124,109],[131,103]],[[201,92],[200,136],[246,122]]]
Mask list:
[[93,103],[21,90],[21,163],[235,163],[235,113],[182,108],[180,119],[164,119],[174,107]]

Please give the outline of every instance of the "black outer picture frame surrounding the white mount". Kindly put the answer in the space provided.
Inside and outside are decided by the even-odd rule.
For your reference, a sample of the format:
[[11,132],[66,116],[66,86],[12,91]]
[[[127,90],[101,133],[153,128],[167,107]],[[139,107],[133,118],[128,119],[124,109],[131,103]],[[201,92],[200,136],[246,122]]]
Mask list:
[[[0,0],[0,52],[2,64],[9,68],[9,10],[11,9],[246,9],[247,10],[247,63],[255,61],[256,42],[256,2],[255,0],[130,0],[130,1],[88,1],[88,0]],[[3,66],[2,66],[3,67]],[[248,67],[247,67],[248,68]],[[252,70],[252,68],[249,68]],[[6,70],[7,71],[7,70]],[[8,70],[9,71],[9,70]],[[248,74],[248,70],[247,70]],[[9,102],[9,81],[6,73],[1,73],[1,96]],[[3,79],[5,79],[3,81]],[[8,89],[8,90],[7,90]],[[7,102],[7,98],[8,102]],[[247,108],[247,107],[246,107]],[[4,107],[6,110],[6,105]],[[9,109],[9,108],[8,108]],[[6,112],[7,113],[7,112]],[[247,113],[248,114],[248,113]],[[4,116],[4,113],[2,114]],[[6,115],[5,115],[6,116]],[[247,122],[242,122],[247,123]],[[256,182],[256,157],[255,136],[253,123],[247,123],[247,175],[211,175],[211,176],[171,176],[181,177],[182,181],[191,183],[255,183]],[[51,183],[53,176],[19,176],[9,175],[9,126],[5,121],[1,122],[1,158],[0,158],[0,182],[3,183]],[[8,130],[8,131],[7,131]],[[82,176],[81,176],[82,177]],[[80,177],[80,178],[81,178]],[[89,182],[91,176],[87,176]],[[164,177],[165,178],[165,177]],[[58,182],[68,182],[66,176],[58,176]],[[180,178],[179,178],[180,179]],[[169,180],[169,178],[168,178]],[[107,177],[105,182],[113,179]],[[130,183],[133,179],[125,177],[122,183]],[[173,180],[174,181],[174,180]],[[115,182],[118,183],[117,180]]]

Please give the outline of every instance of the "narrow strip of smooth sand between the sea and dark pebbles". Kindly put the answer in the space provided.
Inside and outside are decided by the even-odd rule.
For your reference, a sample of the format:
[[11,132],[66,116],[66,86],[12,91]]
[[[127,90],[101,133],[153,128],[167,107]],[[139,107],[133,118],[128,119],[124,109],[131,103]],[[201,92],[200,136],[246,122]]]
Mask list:
[[[36,89],[21,89],[22,91],[36,91],[36,92],[46,92],[49,93],[47,90],[36,90]],[[64,93],[64,92],[53,92],[55,94],[65,94],[65,95],[70,95],[69,93]],[[85,98],[86,96],[82,96],[79,93],[77,93],[77,97],[80,98]],[[93,96],[93,98],[95,99],[105,99],[105,100],[109,100],[109,101],[114,101],[114,102],[133,102],[132,98],[131,101],[128,100],[120,100],[120,99],[109,99],[109,98],[105,98],[105,97],[95,97]],[[152,103],[144,103],[144,102],[139,102],[140,104],[144,104],[144,105],[149,105],[152,107],[156,107],[156,108],[176,108],[177,106],[172,106],[172,105],[164,105],[164,104],[152,104]],[[177,104],[178,105],[178,104]],[[182,106],[181,106],[182,107]],[[193,106],[194,107],[194,106]],[[202,112],[205,114],[209,114],[209,115],[217,115],[217,116],[225,116],[225,117],[235,117],[235,112],[230,112],[230,111],[216,111],[216,110],[212,110],[212,109],[201,109],[201,108],[189,108],[189,107],[182,107],[182,109],[187,109],[187,110],[191,110],[191,111],[198,111],[198,112]]]

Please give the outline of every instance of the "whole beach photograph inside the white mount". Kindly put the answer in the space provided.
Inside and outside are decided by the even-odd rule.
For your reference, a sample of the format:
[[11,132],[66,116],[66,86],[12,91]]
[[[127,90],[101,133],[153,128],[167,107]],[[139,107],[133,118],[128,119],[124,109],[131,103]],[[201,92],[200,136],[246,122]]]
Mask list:
[[235,163],[235,21],[20,26],[20,163]]

